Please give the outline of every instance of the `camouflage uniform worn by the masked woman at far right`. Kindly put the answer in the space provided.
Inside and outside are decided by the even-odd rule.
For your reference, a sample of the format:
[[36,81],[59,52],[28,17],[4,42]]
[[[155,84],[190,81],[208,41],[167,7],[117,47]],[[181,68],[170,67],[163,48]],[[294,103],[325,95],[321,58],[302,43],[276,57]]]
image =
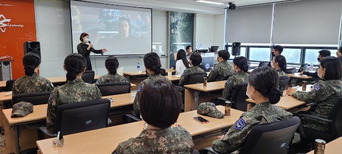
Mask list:
[[[305,101],[314,102],[317,104],[315,112],[308,112],[322,118],[328,118],[330,111],[337,103],[337,99],[342,97],[342,81],[341,80],[327,80],[319,81],[310,92],[297,91],[292,95],[293,97]],[[318,131],[328,131],[328,123],[317,121],[310,118],[302,118],[301,123],[303,127],[314,129]]]

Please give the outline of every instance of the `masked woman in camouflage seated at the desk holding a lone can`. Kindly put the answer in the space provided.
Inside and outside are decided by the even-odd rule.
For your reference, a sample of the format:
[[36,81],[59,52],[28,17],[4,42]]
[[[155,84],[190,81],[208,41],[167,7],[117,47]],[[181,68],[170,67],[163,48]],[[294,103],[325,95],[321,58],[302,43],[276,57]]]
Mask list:
[[248,61],[243,56],[233,59],[233,69],[235,74],[228,78],[225,88],[223,89],[222,98],[230,100],[235,88],[239,84],[247,83],[248,81]]

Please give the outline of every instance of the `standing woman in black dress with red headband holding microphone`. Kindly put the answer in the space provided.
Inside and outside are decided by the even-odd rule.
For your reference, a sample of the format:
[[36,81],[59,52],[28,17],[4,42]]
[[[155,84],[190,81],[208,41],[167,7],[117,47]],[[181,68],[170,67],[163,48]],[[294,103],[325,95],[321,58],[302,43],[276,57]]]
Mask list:
[[[90,52],[97,53],[103,55],[104,52],[107,52],[107,49],[95,50],[92,47],[91,42],[89,41],[89,35],[87,33],[82,33],[80,36],[81,43],[77,45],[77,52],[82,54],[87,60],[87,68],[86,70],[92,70],[91,61],[89,58]],[[89,43],[89,44],[87,44]]]

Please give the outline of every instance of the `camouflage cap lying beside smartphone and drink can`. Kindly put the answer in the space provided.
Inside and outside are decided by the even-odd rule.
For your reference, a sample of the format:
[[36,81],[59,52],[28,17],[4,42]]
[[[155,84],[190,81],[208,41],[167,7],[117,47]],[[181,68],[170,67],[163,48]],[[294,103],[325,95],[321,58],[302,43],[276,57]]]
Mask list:
[[197,113],[207,114],[213,118],[222,118],[225,116],[225,114],[217,110],[215,104],[211,102],[201,103],[197,108]]

